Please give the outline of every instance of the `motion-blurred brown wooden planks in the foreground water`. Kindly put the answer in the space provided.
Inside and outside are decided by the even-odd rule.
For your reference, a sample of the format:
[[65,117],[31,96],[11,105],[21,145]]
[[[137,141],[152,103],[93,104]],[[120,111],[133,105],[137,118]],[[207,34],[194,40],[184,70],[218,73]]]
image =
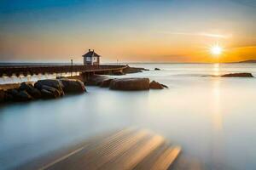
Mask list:
[[125,129],[45,163],[44,170],[166,170],[181,148],[146,130]]

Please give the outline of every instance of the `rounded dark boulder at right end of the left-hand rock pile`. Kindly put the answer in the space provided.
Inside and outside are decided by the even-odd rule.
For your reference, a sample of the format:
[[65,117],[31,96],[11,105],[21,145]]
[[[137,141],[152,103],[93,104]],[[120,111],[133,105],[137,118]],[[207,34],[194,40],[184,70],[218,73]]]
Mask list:
[[66,94],[81,94],[86,92],[84,82],[79,80],[61,79],[63,91]]

